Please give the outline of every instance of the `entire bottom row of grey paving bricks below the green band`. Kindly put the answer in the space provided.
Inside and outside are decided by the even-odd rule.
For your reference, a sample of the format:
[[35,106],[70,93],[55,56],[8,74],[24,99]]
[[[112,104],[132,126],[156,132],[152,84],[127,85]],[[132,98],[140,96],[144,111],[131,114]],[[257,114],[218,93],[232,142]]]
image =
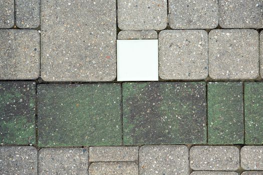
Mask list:
[[[139,163],[138,163],[139,162]],[[262,175],[263,146],[0,147],[2,174]],[[251,171],[256,170],[256,171]]]

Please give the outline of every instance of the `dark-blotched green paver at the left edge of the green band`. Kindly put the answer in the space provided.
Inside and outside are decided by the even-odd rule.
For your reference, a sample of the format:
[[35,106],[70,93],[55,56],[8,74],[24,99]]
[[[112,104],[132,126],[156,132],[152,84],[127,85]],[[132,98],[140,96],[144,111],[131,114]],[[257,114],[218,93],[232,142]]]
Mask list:
[[0,82],[0,143],[35,144],[36,83]]

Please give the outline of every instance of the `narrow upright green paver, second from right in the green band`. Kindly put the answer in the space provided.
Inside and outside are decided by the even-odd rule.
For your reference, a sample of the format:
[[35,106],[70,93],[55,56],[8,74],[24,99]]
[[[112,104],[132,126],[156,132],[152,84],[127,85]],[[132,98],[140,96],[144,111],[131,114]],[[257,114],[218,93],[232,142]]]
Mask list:
[[242,82],[209,82],[208,143],[242,144],[244,137]]

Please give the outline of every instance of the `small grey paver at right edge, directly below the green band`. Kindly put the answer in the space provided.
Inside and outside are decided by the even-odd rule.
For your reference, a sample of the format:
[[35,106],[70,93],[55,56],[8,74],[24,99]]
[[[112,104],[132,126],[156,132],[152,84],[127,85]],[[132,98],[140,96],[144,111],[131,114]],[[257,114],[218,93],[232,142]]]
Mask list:
[[263,146],[243,146],[240,159],[245,170],[263,170]]

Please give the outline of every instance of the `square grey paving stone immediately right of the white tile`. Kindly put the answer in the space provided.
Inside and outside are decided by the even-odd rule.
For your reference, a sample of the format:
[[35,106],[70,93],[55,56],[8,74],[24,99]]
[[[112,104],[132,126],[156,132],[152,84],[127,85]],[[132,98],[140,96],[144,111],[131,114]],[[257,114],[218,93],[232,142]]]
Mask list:
[[208,75],[205,30],[163,30],[159,33],[159,75],[162,79],[204,79]]

